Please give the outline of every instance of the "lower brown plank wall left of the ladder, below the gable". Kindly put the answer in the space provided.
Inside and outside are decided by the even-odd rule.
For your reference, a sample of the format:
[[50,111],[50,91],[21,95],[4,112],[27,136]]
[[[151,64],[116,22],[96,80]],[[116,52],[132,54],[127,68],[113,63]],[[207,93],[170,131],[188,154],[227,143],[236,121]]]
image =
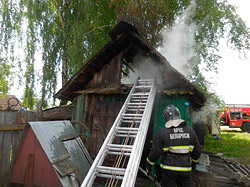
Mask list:
[[118,94],[86,96],[83,121],[91,131],[86,147],[92,158],[96,157],[125,99],[125,95]]

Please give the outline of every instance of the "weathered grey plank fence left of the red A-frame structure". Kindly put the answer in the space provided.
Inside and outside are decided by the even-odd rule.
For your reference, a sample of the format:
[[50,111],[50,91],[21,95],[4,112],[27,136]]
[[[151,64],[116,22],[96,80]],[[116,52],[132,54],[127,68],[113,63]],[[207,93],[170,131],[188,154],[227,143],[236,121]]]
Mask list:
[[[36,113],[31,111],[0,111],[1,127],[14,127],[18,121],[35,121]],[[0,130],[0,186],[7,185],[7,179],[11,174],[13,163],[23,130]]]

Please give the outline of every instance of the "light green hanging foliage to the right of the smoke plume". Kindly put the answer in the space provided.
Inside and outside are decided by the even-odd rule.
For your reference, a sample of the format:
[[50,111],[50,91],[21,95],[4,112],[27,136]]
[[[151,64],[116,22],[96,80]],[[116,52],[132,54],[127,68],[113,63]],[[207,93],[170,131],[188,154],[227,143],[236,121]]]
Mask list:
[[217,71],[219,55],[219,41],[227,39],[229,47],[245,53],[250,49],[250,32],[246,23],[237,15],[234,6],[227,1],[196,1],[195,12],[189,20],[190,24],[198,26],[195,36],[195,55],[190,59],[189,66],[193,75],[189,79],[198,88],[207,93],[209,82],[201,73],[201,64],[205,64],[203,70]]

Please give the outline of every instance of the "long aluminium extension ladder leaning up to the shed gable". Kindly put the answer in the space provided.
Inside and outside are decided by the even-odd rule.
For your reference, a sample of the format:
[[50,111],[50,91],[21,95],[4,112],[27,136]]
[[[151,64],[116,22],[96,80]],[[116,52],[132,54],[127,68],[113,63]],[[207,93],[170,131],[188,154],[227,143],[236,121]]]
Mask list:
[[[156,86],[153,79],[137,80],[111,127],[81,187],[133,187],[153,109]],[[113,159],[113,167],[105,160]]]

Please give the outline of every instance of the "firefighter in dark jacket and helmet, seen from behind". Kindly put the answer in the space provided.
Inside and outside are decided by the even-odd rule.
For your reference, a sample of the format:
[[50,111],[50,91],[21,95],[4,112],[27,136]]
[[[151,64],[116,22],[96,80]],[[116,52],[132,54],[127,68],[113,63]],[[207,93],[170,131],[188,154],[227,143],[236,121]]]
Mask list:
[[178,108],[168,105],[163,111],[165,127],[154,137],[152,149],[146,162],[151,175],[152,166],[162,156],[161,186],[192,186],[192,166],[198,163],[201,147],[195,131],[181,119]]

